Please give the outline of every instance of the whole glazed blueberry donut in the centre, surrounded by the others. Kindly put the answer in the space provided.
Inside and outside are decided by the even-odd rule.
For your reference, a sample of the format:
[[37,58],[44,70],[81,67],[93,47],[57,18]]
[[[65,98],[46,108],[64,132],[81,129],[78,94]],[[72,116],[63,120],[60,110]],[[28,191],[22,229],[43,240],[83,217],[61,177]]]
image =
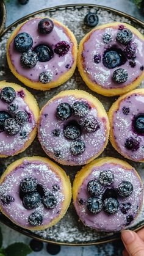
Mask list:
[[99,156],[109,138],[109,120],[101,102],[82,90],[66,90],[41,109],[38,139],[60,164],[79,166]]

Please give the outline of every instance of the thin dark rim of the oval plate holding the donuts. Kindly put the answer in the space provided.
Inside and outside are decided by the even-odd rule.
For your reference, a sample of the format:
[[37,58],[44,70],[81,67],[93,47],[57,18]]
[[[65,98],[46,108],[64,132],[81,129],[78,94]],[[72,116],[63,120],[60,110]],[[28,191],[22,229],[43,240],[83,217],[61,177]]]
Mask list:
[[[31,16],[34,16],[34,15],[37,15],[41,12],[52,12],[53,10],[59,10],[59,9],[71,9],[71,8],[75,8],[75,7],[85,7],[85,8],[88,8],[88,7],[92,7],[92,8],[98,8],[98,9],[103,9],[103,10],[108,10],[110,12],[114,12],[118,15],[121,15],[121,16],[124,16],[126,18],[129,18],[129,20],[132,20],[133,22],[137,23],[137,24],[140,24],[140,26],[142,26],[144,28],[144,22],[135,18],[134,16],[132,15],[129,15],[128,13],[124,13],[124,12],[121,12],[120,10],[117,10],[117,9],[113,9],[111,7],[107,7],[107,6],[104,6],[104,5],[98,5],[98,4],[85,4],[85,3],[81,3],[81,4],[63,4],[63,5],[55,5],[53,7],[48,7],[48,8],[45,8],[45,9],[40,9],[40,10],[37,10],[36,12],[32,12],[32,13],[29,13],[28,15],[26,16],[23,16],[22,18],[16,20],[15,22],[13,22],[12,24],[10,24],[8,27],[6,27],[4,29],[4,31],[2,31],[1,35],[0,35],[0,39],[2,38],[2,36],[5,34],[5,32],[7,32],[9,29],[11,29],[13,26],[17,25],[18,23],[21,23],[23,22],[24,20],[26,20],[27,18],[30,18]],[[5,217],[6,218],[6,217]],[[105,243],[110,243],[112,241],[116,241],[116,240],[119,240],[120,239],[120,234],[118,234],[117,237],[115,238],[110,238],[108,240],[104,239],[103,241],[97,241],[97,242],[90,242],[90,243],[65,243],[65,242],[58,242],[58,241],[51,241],[51,240],[46,240],[45,238],[40,238],[39,236],[35,235],[34,233],[27,233],[28,231],[27,230],[18,230],[19,226],[18,225],[10,225],[9,223],[7,224],[3,219],[0,218],[0,222],[2,224],[5,224],[7,225],[7,227],[10,227],[11,229],[15,230],[16,232],[19,232],[23,235],[26,235],[26,236],[29,236],[30,238],[33,238],[35,240],[38,240],[38,241],[42,241],[42,242],[45,242],[45,243],[51,243],[51,244],[57,244],[57,245],[63,245],[63,246],[93,246],[93,245],[98,245],[98,244],[105,244]],[[137,230],[140,230],[144,227],[144,224],[141,225],[140,227],[138,227],[137,229],[134,229],[134,231],[137,231]]]

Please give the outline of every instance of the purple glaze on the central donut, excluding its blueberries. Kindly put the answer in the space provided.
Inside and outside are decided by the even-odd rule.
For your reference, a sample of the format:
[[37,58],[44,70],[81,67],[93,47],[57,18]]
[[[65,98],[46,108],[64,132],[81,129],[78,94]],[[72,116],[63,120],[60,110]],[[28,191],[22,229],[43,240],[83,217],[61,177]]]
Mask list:
[[[85,99],[82,98],[79,100],[85,101]],[[93,106],[91,106],[91,103],[88,102],[90,110],[88,111],[88,114],[85,117],[88,117],[89,115],[93,115],[94,117],[96,117],[98,119],[99,128],[98,130],[92,133],[87,133],[84,130],[82,130],[82,134],[78,139],[81,139],[82,141],[85,142],[85,151],[81,155],[71,155],[71,140],[68,140],[63,135],[63,127],[71,121],[79,122],[81,118],[74,117],[74,115],[72,115],[68,120],[59,120],[56,117],[56,108],[60,103],[63,102],[69,103],[72,106],[75,101],[77,101],[77,98],[75,98],[73,95],[69,97],[62,97],[57,98],[56,100],[52,100],[43,108],[43,111],[40,115],[40,122],[38,125],[38,137],[41,146],[43,147],[45,152],[51,158],[55,159],[59,163],[61,161],[63,163],[64,161],[65,164],[73,166],[86,164],[90,158],[97,155],[104,147],[104,143],[106,142],[107,137],[106,119],[100,119],[98,117],[97,109],[93,108]],[[60,130],[59,137],[52,136],[52,131],[54,129]],[[54,156],[54,150],[60,150],[60,152],[62,153],[62,157],[60,159]]]

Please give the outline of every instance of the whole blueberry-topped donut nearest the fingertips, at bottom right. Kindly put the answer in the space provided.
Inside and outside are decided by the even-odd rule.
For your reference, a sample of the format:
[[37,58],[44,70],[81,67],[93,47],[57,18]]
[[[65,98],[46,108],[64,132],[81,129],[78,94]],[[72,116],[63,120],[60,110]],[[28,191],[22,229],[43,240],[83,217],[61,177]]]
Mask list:
[[132,224],[141,210],[142,180],[128,163],[117,158],[99,158],[76,174],[73,202],[84,225],[118,232]]

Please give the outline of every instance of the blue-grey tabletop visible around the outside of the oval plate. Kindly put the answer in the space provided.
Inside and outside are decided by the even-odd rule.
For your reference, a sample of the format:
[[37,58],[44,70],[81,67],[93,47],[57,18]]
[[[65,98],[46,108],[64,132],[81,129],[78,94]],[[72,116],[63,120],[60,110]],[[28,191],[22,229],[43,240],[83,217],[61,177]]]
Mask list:
[[[140,20],[144,21],[142,15],[140,15],[139,10],[135,7],[135,4],[132,0],[30,0],[29,4],[20,5],[18,4],[17,0],[10,0],[9,3],[6,4],[7,7],[7,26],[12,24],[14,21],[18,20],[19,18],[31,13],[35,12],[40,9],[44,9],[46,7],[52,7],[55,5],[61,4],[74,4],[74,3],[88,3],[88,4],[99,4],[99,5],[106,5],[112,7],[117,10],[121,10],[122,12],[128,13]],[[2,233],[4,235],[4,246],[7,244],[11,244],[18,241],[23,241],[24,243],[29,244],[30,238],[27,238],[24,235],[21,235],[18,232],[9,229],[3,224],[0,224],[2,228]],[[103,244],[101,246],[87,246],[87,247],[68,247],[68,246],[61,246],[59,256],[114,256],[114,255],[121,255],[122,254],[122,244],[121,242],[116,243],[109,243]],[[32,256],[36,255],[49,255],[46,252],[46,244],[44,246],[43,251],[41,252],[33,252]]]

